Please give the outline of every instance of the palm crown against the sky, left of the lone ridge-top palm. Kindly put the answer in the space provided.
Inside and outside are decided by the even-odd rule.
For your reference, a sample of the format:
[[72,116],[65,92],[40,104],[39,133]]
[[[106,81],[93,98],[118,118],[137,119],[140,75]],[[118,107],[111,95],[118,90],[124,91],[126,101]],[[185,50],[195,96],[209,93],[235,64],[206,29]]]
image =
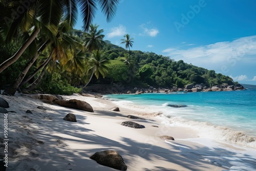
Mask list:
[[103,29],[97,30],[99,25],[96,24],[90,25],[90,29],[88,33],[84,33],[84,46],[87,49],[87,51],[90,53],[94,50],[99,50],[103,47],[104,41],[103,38],[105,35],[103,35]]

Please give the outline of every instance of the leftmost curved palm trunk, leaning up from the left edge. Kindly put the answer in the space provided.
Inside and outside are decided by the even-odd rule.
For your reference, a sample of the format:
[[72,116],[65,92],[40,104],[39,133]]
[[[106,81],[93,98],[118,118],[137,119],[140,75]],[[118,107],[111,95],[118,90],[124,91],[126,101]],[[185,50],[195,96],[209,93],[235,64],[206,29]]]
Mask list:
[[38,33],[40,32],[39,28],[36,28],[35,31],[29,36],[26,42],[19,48],[19,50],[9,59],[1,63],[0,65],[0,73],[2,73],[7,67],[12,65],[20,56],[22,56],[23,52],[29,47],[31,42],[36,38]]

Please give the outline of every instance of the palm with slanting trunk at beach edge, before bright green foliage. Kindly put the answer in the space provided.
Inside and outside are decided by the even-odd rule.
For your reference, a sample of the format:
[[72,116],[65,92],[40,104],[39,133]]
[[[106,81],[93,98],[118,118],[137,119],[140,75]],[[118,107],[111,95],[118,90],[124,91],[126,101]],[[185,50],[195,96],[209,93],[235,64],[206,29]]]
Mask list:
[[[103,78],[105,78],[106,73],[109,71],[109,68],[106,66],[106,64],[109,63],[108,60],[106,59],[101,59],[101,53],[100,51],[93,51],[92,55],[89,59],[89,63],[91,64],[91,68],[88,71],[92,71],[92,75],[89,79],[89,81],[87,82],[86,86],[89,84],[89,82],[91,81],[93,75],[96,76],[96,78],[99,78],[99,75],[102,75]],[[86,86],[83,86],[83,88],[85,88]]]

